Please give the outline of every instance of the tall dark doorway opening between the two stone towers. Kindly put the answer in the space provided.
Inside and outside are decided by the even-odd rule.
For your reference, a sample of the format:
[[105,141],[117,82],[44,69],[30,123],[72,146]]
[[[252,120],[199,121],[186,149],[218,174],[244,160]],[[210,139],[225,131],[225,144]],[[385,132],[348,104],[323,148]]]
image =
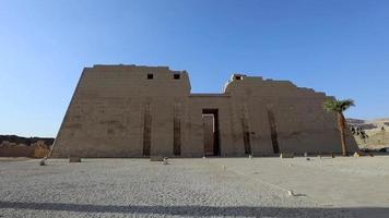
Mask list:
[[202,109],[204,156],[220,156],[219,110]]

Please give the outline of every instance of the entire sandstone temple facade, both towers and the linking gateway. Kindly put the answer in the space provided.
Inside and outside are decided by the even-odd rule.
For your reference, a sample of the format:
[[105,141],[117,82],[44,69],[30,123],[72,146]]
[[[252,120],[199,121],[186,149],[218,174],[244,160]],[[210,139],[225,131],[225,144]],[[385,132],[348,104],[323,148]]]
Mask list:
[[209,134],[204,113],[217,119],[215,155],[338,153],[335,118],[321,108],[327,98],[245,75],[234,75],[222,94],[190,94],[185,71],[95,65],[81,75],[52,155],[200,157]]

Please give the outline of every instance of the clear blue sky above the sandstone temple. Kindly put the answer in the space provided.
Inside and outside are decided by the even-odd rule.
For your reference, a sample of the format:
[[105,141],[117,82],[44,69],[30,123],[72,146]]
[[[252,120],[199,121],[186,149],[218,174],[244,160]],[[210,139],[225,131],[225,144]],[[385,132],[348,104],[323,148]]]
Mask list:
[[0,134],[55,136],[97,63],[187,70],[193,93],[290,80],[389,117],[389,1],[0,0]]

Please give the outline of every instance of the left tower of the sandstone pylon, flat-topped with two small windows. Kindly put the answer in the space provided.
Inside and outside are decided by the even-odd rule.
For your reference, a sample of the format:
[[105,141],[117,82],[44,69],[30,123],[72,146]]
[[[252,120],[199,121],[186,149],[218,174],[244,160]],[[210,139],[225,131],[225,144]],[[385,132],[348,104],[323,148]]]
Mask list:
[[189,90],[187,73],[167,68],[86,68],[58,133],[54,156],[141,157],[144,146],[149,147],[148,156],[170,155],[173,109],[187,99]]

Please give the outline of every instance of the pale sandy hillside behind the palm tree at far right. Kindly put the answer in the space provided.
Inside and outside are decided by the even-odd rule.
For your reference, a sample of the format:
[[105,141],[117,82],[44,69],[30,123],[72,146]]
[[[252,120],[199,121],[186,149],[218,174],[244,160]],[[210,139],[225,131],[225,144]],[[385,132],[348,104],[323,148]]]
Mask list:
[[347,118],[346,120],[350,128],[358,128],[367,135],[364,138],[361,134],[354,134],[359,148],[379,149],[389,147],[389,118],[375,120]]

